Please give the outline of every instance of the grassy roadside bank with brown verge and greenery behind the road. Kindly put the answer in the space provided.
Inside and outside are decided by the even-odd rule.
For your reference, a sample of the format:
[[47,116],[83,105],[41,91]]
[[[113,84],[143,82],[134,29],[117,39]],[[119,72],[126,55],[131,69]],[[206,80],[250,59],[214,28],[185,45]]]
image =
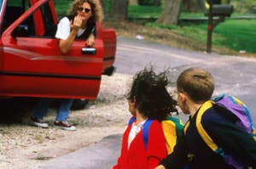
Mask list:
[[[59,0],[55,4],[57,13],[66,14],[67,4],[70,2]],[[256,5],[254,1],[248,4],[234,1],[235,13],[213,29],[212,52],[256,57],[256,13],[252,9],[252,4]],[[105,9],[108,10],[108,1],[105,5]],[[241,6],[243,8],[239,8],[239,13],[236,12],[236,8]],[[105,16],[104,25],[113,27],[119,35],[127,37],[140,35],[146,40],[162,42],[177,48],[206,50],[207,17],[204,14],[182,12],[178,25],[160,25],[155,20],[160,16],[161,10],[160,6],[130,5],[128,20],[114,22]]]

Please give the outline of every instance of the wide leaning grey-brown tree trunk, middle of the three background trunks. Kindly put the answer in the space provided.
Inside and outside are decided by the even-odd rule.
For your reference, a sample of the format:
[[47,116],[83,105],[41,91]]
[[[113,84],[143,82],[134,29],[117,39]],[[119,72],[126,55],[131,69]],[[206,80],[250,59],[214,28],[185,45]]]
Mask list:
[[158,23],[163,25],[177,25],[182,0],[164,0],[163,10]]

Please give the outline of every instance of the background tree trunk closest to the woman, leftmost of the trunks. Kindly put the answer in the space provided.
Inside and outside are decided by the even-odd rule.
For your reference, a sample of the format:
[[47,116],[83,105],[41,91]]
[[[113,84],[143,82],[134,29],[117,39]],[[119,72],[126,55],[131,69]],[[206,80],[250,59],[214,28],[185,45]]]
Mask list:
[[128,16],[128,0],[109,0],[109,20],[126,20]]

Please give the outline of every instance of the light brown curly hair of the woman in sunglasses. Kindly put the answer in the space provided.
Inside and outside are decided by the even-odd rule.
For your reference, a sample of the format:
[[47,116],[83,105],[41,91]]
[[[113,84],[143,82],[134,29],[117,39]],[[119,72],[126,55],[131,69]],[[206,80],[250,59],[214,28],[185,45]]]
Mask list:
[[68,14],[76,16],[79,6],[82,6],[83,3],[90,4],[92,18],[95,22],[102,20],[102,10],[96,3],[96,0],[74,0],[73,3],[71,3]]

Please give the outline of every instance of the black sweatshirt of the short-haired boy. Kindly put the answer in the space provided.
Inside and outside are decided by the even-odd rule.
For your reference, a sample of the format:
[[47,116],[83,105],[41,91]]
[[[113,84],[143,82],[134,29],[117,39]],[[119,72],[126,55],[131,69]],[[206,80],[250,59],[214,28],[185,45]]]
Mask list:
[[[218,111],[218,112],[217,112]],[[171,155],[160,162],[167,169],[228,169],[234,168],[224,162],[224,159],[210,149],[203,141],[195,126],[195,118],[189,118],[186,135],[183,134]],[[239,159],[246,166],[256,166],[256,142],[252,135],[241,127],[237,127],[236,117],[223,110],[210,108],[201,117],[201,124],[207,134],[226,154]]]

